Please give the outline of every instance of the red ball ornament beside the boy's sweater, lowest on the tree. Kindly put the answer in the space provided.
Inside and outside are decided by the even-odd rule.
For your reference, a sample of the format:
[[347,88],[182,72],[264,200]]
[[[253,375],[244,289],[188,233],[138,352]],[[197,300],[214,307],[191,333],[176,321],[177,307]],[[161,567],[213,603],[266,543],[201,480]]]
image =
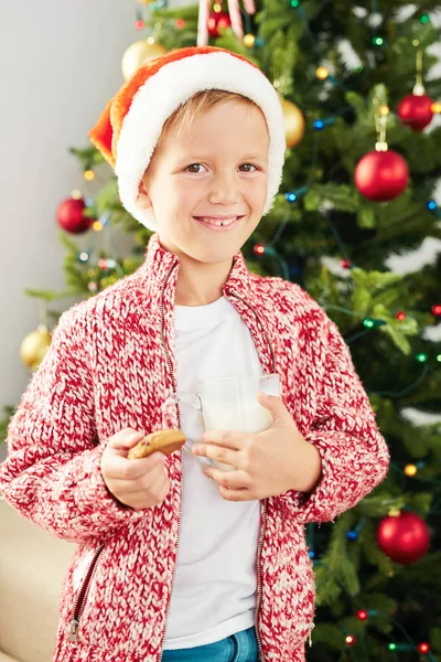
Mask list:
[[381,520],[377,530],[379,548],[396,563],[410,565],[424,556],[430,546],[429,530],[423,520],[402,511]]

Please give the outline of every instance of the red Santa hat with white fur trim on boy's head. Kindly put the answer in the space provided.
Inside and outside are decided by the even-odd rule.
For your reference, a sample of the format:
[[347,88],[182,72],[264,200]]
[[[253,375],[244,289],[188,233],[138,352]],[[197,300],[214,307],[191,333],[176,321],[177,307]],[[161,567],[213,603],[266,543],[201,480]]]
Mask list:
[[153,210],[142,209],[137,202],[139,182],[168,117],[204,89],[240,94],[262,110],[269,131],[263,214],[271,209],[279,190],[286,137],[282,107],[270,81],[248,60],[225,49],[179,49],[139,67],[89,131],[92,142],[115,170],[122,205],[153,232],[158,229]]

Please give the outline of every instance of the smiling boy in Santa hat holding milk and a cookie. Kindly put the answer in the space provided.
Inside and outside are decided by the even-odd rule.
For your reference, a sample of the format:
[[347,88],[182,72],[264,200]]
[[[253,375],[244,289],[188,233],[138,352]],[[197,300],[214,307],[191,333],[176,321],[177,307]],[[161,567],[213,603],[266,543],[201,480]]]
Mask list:
[[[281,180],[277,94],[238,55],[183,49],[138,70],[90,138],[155,234],[132,276],[62,316],[9,428],[4,499],[78,544],[54,662],[302,662],[303,527],[354,506],[389,455],[336,325],[240,253]],[[170,393],[270,373],[268,430],[193,448],[234,471],[127,458]],[[186,408],[173,423],[201,438]]]

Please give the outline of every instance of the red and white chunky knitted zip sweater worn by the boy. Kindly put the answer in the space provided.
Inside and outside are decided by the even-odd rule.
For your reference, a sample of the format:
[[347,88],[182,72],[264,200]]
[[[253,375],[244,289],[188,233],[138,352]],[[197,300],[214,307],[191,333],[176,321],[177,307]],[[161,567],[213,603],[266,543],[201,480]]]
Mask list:
[[[9,426],[3,498],[49,533],[77,544],[60,599],[54,662],[160,662],[176,563],[183,461],[165,459],[171,489],[150,509],[117,501],[100,473],[109,437],[163,427],[176,387],[179,258],[158,235],[144,263],[64,312]],[[235,258],[223,293],[248,325],[263,374],[322,459],[310,494],[262,499],[256,549],[261,662],[302,662],[314,579],[304,525],[333,521],[385,477],[389,453],[337,327],[299,286],[250,274]],[[180,425],[176,407],[175,427]]]

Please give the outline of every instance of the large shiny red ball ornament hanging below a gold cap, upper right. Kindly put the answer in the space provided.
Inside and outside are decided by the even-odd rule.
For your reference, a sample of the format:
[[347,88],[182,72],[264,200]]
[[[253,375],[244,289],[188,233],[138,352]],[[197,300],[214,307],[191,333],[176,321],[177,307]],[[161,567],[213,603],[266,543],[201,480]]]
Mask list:
[[373,150],[358,161],[355,168],[355,185],[365,197],[384,202],[394,200],[406,189],[409,168],[396,151]]

